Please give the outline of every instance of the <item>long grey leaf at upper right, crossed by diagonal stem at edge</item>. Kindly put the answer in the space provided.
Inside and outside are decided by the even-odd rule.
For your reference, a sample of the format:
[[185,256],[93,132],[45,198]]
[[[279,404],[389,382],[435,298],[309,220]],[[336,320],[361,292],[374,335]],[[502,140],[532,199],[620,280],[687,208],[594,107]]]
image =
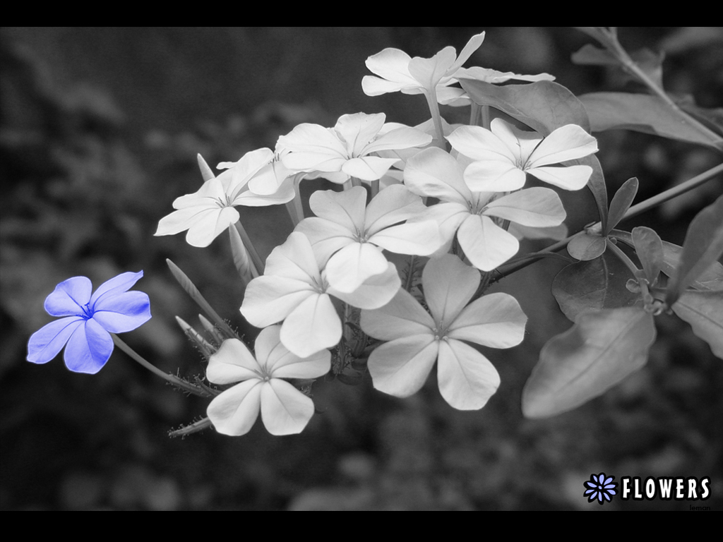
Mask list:
[[723,149],[723,137],[691,121],[661,98],[649,94],[589,93],[580,96],[593,132],[628,129]]

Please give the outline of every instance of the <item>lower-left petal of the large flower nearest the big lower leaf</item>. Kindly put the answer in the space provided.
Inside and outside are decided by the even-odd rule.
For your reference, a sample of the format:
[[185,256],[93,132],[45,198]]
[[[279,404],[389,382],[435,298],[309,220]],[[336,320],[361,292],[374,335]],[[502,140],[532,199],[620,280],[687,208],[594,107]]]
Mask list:
[[375,348],[368,363],[374,387],[395,397],[418,392],[437,360],[438,345],[432,335],[411,335]]

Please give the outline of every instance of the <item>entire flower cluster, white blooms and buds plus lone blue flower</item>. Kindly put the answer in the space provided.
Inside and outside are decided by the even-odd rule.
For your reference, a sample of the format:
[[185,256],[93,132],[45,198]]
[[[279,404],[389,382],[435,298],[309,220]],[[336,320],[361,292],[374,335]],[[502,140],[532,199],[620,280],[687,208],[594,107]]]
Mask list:
[[[575,124],[545,135],[490,115],[484,126],[447,124],[439,104],[472,103],[461,79],[554,79],[463,68],[483,40],[484,33],[473,36],[459,55],[446,47],[411,58],[388,48],[367,59],[375,75],[362,79],[364,93],[424,95],[431,119],[420,126],[388,123],[384,113],[346,114],[333,127],[299,124],[275,149],[220,163],[219,173],[200,159],[202,186],[173,202],[155,235],[187,231],[188,244],[205,247],[231,233],[246,284],[241,315],[260,328],[254,353],[181,280],[223,328],[205,326],[211,344],[184,323],[208,358],[208,382],[233,384],[223,391],[187,384],[215,395],[207,413],[217,431],[246,434],[260,413],[271,434],[299,433],[315,408],[310,384],[304,393],[296,380],[341,371],[350,357],[368,361],[374,387],[397,397],[417,392],[435,364],[440,393],[454,408],[482,408],[495,393],[500,377],[474,345],[518,345],[526,316],[513,296],[485,293],[490,273],[518,253],[515,228],[564,227],[556,189],[586,185],[592,169],[568,161],[596,152],[597,143]],[[528,186],[528,174],[554,189]],[[334,188],[311,195],[308,218],[304,178],[325,178]],[[237,207],[281,204],[295,228],[263,262]],[[62,318],[30,337],[28,361],[46,363],[67,345],[70,369],[97,372],[111,355],[110,333],[150,318],[147,296],[127,291],[141,276],[119,275],[92,296],[87,278],[59,284],[46,310]]]

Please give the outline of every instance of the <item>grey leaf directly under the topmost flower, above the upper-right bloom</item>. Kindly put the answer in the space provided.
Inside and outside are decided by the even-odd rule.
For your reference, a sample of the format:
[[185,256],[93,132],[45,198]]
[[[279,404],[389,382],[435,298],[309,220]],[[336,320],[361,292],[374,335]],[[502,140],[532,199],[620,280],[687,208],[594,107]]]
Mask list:
[[590,132],[585,107],[559,83],[537,81],[500,87],[476,79],[459,82],[474,103],[500,109],[545,137],[565,124],[578,124]]

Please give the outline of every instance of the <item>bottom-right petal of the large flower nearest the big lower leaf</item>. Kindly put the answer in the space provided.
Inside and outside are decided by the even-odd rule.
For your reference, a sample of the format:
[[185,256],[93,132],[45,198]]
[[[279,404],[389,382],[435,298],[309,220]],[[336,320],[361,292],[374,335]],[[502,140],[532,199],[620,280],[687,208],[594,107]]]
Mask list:
[[458,410],[477,410],[500,387],[500,374],[477,350],[459,340],[440,341],[437,381],[445,401]]

